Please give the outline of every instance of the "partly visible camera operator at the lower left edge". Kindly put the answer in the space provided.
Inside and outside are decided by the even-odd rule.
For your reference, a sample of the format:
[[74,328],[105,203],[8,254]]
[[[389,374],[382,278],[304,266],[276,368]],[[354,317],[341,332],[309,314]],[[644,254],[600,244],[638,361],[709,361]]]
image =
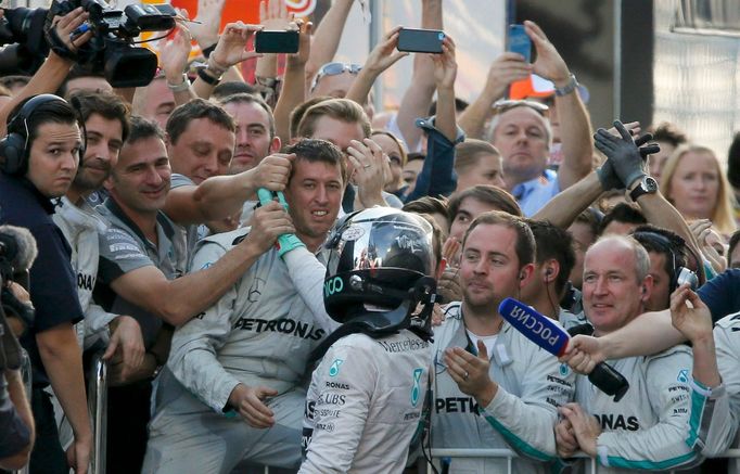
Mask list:
[[[11,283],[10,289],[16,297],[27,300],[28,294],[17,283]],[[25,466],[34,446],[34,417],[23,387],[20,360],[21,347],[0,306],[0,469]]]

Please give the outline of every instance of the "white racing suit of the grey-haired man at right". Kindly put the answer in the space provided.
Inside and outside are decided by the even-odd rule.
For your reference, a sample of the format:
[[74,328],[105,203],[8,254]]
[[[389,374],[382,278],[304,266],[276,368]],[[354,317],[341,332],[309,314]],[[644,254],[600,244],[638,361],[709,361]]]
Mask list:
[[588,377],[577,376],[576,401],[601,424],[599,473],[656,472],[699,461],[686,444],[691,360],[688,347],[676,346],[654,356],[609,361],[629,382],[629,389],[616,403]]

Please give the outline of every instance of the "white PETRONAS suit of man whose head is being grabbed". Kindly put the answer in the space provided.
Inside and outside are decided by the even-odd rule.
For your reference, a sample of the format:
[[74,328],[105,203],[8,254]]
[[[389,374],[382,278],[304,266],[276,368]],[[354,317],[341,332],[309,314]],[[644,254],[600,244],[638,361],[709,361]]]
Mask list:
[[[247,231],[199,242],[192,269],[213,265]],[[160,377],[144,473],[229,473],[242,459],[298,466],[305,400],[299,384],[309,353],[335,323],[310,309],[323,308],[321,264],[305,248],[286,256],[296,262],[290,274],[270,249],[214,306],[176,330]],[[272,427],[253,428],[231,410],[228,398],[239,383],[279,393],[266,401]]]

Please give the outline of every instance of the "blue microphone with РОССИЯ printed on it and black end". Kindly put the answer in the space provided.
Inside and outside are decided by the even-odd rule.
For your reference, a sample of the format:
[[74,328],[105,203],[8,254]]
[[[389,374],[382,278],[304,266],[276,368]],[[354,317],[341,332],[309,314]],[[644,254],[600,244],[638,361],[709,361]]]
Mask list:
[[[514,298],[503,299],[498,312],[516,331],[553,356],[560,357],[565,351],[571,336],[547,316]],[[629,389],[627,379],[605,362],[599,362],[588,380],[604,394],[613,396],[615,402]]]

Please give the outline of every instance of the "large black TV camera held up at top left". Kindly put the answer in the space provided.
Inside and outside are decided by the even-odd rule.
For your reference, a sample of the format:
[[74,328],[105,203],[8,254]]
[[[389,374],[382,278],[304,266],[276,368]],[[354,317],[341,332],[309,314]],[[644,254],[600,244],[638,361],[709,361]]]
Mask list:
[[[81,7],[90,14],[80,28],[92,30],[92,38],[77,51],[77,62],[91,67],[93,73],[103,73],[113,87],[146,86],[156,74],[156,54],[133,44],[143,31],[166,31],[175,27],[175,9],[167,3],[132,4],[114,10],[103,0],[54,0],[47,15],[51,18],[66,15]],[[51,31],[49,31],[51,33]],[[59,37],[47,34],[54,49]]]

